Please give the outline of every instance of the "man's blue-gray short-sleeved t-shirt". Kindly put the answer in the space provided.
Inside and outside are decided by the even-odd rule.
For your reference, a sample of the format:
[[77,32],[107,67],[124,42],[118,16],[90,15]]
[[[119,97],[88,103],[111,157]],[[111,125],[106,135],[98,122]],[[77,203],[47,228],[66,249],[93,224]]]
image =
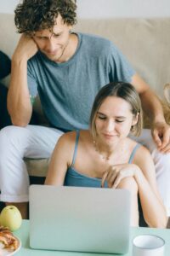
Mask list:
[[131,82],[133,68],[108,39],[77,33],[69,61],[50,61],[40,51],[28,61],[28,86],[49,123],[60,129],[88,129],[94,97],[112,81]]

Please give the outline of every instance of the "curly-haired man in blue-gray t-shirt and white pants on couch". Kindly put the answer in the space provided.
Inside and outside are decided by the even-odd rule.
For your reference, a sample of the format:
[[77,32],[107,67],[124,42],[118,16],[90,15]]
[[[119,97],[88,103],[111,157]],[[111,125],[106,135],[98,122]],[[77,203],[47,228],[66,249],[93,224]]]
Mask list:
[[[14,126],[0,133],[1,201],[12,202],[26,217],[29,178],[23,158],[47,158],[63,131],[87,129],[99,88],[120,80],[133,84],[144,110],[150,109],[157,148],[146,131],[144,143],[153,154],[168,211],[170,127],[161,104],[109,40],[71,32],[76,9],[73,0],[25,0],[15,10],[15,24],[22,35],[12,58],[8,91]],[[51,128],[28,125],[37,91]]]

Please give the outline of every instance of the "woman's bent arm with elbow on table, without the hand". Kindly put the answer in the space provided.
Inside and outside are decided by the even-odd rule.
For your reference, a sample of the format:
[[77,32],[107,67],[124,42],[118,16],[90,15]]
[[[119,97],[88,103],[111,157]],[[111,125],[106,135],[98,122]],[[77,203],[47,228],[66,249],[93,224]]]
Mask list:
[[151,227],[165,228],[167,213],[157,189],[155,166],[149,151],[144,147],[139,148],[134,161],[139,166],[139,172],[135,173],[135,180],[139,185],[144,219]]

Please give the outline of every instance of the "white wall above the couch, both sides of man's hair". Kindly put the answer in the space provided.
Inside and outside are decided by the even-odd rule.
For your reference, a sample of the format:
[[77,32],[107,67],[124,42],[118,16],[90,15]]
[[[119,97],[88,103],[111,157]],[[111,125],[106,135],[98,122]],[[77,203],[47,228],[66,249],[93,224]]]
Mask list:
[[[0,0],[1,13],[13,13],[20,0]],[[169,0],[77,0],[81,18],[170,17]]]

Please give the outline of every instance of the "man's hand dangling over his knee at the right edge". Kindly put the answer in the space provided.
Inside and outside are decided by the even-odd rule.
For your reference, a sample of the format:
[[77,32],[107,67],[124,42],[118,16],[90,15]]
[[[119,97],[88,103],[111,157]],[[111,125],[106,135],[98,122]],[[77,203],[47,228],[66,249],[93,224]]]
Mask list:
[[170,125],[166,122],[156,122],[151,129],[152,137],[161,153],[170,153]]

